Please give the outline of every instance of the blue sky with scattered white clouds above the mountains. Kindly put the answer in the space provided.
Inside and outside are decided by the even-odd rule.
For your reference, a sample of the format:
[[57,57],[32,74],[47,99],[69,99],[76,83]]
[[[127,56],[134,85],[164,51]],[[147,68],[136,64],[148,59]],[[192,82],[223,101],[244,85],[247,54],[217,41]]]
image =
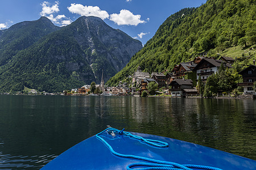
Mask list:
[[80,16],[97,16],[110,27],[120,29],[146,44],[159,26],[185,7],[199,7],[207,0],[8,0],[0,1],[0,29],[46,16],[65,26]]

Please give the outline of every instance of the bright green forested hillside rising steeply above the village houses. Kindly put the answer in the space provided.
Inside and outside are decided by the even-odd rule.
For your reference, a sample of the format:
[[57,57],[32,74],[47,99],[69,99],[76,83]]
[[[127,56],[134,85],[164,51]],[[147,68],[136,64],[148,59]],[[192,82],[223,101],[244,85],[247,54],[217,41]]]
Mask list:
[[126,81],[138,66],[149,73],[170,71],[176,64],[201,54],[217,57],[217,53],[227,50],[234,54],[230,49],[239,49],[237,56],[232,57],[240,58],[249,48],[250,61],[256,60],[255,19],[255,0],[208,0],[198,8],[184,8],[168,17],[154,37],[107,84],[114,86]]

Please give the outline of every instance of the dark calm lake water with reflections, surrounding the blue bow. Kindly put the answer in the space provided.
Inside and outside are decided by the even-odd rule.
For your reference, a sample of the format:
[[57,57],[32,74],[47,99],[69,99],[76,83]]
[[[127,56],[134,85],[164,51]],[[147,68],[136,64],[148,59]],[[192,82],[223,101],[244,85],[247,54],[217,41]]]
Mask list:
[[106,125],[256,160],[256,100],[0,95],[0,169],[40,169]]

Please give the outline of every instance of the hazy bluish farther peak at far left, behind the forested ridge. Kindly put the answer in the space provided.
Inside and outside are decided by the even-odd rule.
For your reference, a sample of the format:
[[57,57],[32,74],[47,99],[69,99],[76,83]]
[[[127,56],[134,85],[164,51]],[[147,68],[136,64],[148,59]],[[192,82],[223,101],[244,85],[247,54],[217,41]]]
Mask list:
[[35,21],[14,24],[0,32],[0,66],[4,65],[20,50],[26,49],[43,36],[56,31],[59,27],[42,16]]

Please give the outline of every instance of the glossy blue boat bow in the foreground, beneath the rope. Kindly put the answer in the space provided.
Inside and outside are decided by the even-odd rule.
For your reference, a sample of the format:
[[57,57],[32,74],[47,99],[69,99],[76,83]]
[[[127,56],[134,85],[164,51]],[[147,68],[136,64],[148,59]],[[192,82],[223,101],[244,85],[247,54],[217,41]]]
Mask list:
[[[228,152],[156,135],[131,133],[147,139],[168,143],[168,147],[155,147],[126,135],[102,133],[115,152],[136,155],[177,164],[196,164],[220,169],[256,169],[256,161]],[[114,155],[96,136],[90,137],[57,156],[42,169],[126,169],[132,163],[148,163],[134,158]]]

